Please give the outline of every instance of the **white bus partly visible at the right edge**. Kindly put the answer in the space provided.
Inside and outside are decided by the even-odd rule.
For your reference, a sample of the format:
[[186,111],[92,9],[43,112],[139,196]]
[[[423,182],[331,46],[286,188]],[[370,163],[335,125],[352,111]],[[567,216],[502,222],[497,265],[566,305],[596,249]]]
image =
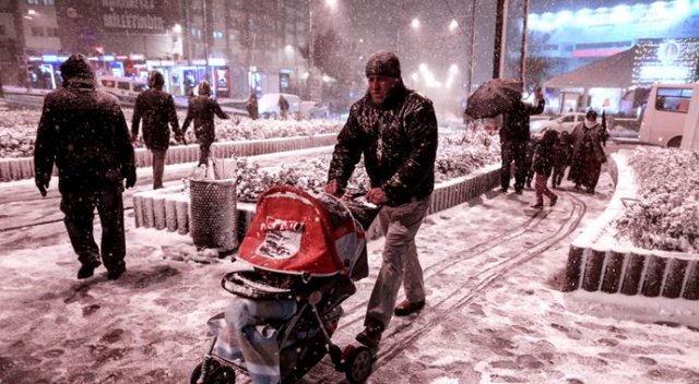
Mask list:
[[689,124],[689,133],[697,128],[698,109],[699,83],[653,84],[641,120],[640,141],[679,147],[686,134],[685,127]]

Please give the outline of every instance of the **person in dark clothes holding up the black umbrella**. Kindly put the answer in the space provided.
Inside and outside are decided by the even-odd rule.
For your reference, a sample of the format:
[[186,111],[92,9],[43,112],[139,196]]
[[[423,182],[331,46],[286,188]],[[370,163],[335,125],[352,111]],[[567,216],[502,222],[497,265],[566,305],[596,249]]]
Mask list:
[[536,89],[536,105],[532,106],[518,101],[516,106],[502,113],[500,129],[500,149],[502,167],[500,169],[500,190],[507,192],[510,188],[510,167],[514,163],[514,193],[522,194],[526,179],[526,142],[530,139],[529,117],[544,111],[544,96]]

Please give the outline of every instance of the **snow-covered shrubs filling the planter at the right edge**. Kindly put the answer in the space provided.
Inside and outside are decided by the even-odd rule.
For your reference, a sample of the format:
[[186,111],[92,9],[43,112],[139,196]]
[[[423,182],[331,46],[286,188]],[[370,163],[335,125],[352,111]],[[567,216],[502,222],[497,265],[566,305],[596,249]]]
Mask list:
[[642,147],[629,158],[638,202],[617,220],[619,236],[636,247],[699,252],[699,156],[697,153]]

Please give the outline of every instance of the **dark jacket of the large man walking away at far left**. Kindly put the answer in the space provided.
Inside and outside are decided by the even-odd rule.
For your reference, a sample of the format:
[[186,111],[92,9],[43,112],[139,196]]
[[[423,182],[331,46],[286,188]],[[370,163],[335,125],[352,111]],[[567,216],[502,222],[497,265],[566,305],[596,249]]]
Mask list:
[[61,193],[123,189],[135,182],[129,128],[117,99],[95,91],[92,79],[71,79],[44,99],[34,170],[48,182],[54,163]]

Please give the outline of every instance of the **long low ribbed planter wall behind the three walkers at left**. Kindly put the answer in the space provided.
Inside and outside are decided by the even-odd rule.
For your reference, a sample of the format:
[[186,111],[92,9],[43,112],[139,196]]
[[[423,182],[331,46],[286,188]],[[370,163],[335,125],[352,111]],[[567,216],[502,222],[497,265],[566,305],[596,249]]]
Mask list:
[[[274,152],[313,148],[333,145],[337,141],[336,133],[315,136],[274,137],[265,140],[244,140],[235,142],[217,142],[211,146],[214,157],[254,156]],[[153,156],[146,148],[135,148],[137,167],[153,166]],[[199,145],[178,145],[167,151],[167,164],[199,161]],[[0,181],[31,179],[34,177],[34,158],[0,158]]]

